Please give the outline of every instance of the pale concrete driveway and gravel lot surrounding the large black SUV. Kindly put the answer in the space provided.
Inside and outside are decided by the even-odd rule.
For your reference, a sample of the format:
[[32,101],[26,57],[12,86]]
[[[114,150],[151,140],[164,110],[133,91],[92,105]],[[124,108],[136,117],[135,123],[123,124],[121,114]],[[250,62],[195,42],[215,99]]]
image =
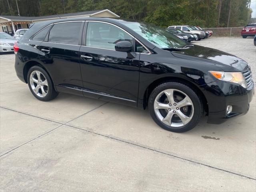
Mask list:
[[[222,46],[234,41],[237,49]],[[196,44],[239,52],[255,80],[250,42]],[[0,55],[0,190],[254,192],[255,97],[245,116],[220,125],[202,118],[179,134],[158,127],[148,110],[63,93],[40,102],[16,77],[14,54]]]

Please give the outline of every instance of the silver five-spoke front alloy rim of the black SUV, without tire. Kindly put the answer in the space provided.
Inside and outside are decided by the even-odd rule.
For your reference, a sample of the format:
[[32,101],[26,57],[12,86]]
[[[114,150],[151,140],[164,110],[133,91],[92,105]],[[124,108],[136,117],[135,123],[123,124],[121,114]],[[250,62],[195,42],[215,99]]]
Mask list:
[[176,89],[160,92],[154,100],[154,112],[162,123],[172,127],[182,127],[194,115],[194,105],[190,97]]

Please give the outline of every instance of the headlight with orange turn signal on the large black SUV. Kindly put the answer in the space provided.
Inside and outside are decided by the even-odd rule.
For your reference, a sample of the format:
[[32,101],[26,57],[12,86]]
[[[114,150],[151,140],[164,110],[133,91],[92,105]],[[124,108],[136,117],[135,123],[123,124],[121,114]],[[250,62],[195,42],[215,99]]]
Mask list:
[[246,80],[242,72],[223,72],[223,71],[209,71],[214,77],[222,81],[228,81],[240,84],[242,87],[246,88]]

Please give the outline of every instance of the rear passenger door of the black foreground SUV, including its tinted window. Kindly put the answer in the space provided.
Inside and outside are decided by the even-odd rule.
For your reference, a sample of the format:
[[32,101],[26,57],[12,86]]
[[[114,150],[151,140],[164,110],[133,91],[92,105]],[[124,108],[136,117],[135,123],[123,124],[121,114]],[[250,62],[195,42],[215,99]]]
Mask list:
[[38,46],[39,57],[56,89],[82,95],[79,49],[84,21],[55,23]]

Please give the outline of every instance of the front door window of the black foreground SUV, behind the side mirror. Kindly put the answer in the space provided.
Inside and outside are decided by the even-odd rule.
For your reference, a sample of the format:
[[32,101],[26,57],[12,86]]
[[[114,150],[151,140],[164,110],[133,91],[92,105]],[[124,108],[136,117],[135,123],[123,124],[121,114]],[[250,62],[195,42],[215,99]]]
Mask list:
[[86,33],[86,46],[115,50],[115,44],[120,41],[130,41],[133,38],[116,26],[89,22]]

